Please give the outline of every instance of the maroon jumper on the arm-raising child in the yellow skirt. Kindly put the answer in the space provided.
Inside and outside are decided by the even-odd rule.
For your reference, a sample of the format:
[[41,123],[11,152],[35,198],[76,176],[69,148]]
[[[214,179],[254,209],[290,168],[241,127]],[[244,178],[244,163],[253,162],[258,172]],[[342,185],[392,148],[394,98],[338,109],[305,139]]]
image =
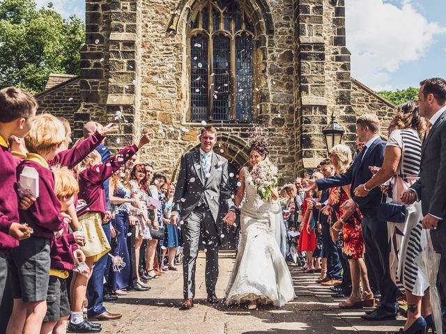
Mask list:
[[100,212],[102,218],[105,216],[103,182],[116,173],[137,152],[137,145],[128,146],[109,157],[104,163],[82,170],[79,174],[79,200],[84,200],[86,206],[77,212],[77,216],[80,217],[87,212]]

